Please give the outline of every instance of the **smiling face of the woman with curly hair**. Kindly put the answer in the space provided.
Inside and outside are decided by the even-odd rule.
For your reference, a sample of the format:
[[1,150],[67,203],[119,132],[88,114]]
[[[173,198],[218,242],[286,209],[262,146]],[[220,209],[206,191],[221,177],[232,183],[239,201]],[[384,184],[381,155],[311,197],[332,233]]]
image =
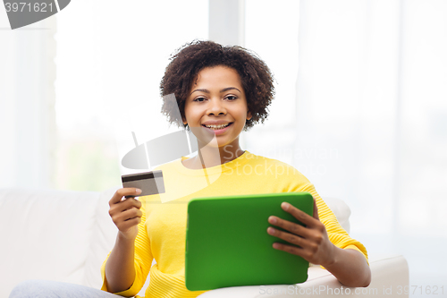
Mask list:
[[236,70],[218,65],[198,72],[185,102],[183,123],[188,123],[199,142],[205,145],[215,135],[219,148],[239,149],[240,132],[250,118]]

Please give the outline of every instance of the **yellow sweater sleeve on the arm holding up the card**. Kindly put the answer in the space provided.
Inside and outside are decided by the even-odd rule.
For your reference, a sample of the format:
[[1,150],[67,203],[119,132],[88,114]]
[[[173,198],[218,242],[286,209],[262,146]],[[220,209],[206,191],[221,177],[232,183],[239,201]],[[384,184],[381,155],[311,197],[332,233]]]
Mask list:
[[[134,259],[134,267],[135,267],[135,280],[131,287],[125,291],[114,293],[118,295],[122,295],[124,297],[133,297],[136,294],[139,294],[139,291],[143,287],[146,282],[146,278],[148,277],[149,269],[152,265],[152,260],[154,259],[152,256],[152,251],[150,249],[148,231],[146,230],[146,210],[144,197],[139,198],[142,200],[141,211],[143,213],[141,217],[141,222],[139,223],[139,234],[135,239],[135,259]],[[110,252],[107,255],[107,258],[103,262],[101,267],[101,275],[103,277],[103,285],[101,286],[101,290],[107,291],[107,282],[105,277],[105,264],[110,256]],[[108,291],[107,291],[108,292]]]

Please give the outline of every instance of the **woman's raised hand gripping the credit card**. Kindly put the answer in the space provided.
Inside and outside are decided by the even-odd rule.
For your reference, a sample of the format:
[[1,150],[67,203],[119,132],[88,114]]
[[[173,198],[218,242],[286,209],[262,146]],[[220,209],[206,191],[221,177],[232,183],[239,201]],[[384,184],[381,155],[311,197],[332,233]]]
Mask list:
[[142,212],[139,210],[141,208],[139,200],[133,197],[125,199],[125,196],[138,196],[139,193],[141,193],[141,190],[137,188],[121,188],[109,200],[109,215],[118,228],[118,233],[126,239],[137,237]]

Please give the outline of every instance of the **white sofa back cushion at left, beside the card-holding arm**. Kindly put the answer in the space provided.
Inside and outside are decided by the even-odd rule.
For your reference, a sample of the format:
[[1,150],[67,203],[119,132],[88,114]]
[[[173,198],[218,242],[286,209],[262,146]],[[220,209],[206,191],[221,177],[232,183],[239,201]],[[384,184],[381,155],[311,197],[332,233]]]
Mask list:
[[0,190],[0,297],[25,279],[82,284],[98,192]]

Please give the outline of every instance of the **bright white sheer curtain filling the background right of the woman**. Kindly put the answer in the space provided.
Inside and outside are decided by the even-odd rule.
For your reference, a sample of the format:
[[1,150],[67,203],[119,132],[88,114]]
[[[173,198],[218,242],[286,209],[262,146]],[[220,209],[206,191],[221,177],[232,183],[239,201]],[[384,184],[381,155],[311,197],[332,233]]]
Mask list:
[[[351,234],[373,258],[403,254],[410,285],[445,285],[447,2],[301,0],[294,14],[282,2],[281,13],[248,5],[246,46],[274,65],[281,102],[248,133],[249,148],[262,145],[322,196],[346,200]],[[257,26],[294,40],[250,40]]]

